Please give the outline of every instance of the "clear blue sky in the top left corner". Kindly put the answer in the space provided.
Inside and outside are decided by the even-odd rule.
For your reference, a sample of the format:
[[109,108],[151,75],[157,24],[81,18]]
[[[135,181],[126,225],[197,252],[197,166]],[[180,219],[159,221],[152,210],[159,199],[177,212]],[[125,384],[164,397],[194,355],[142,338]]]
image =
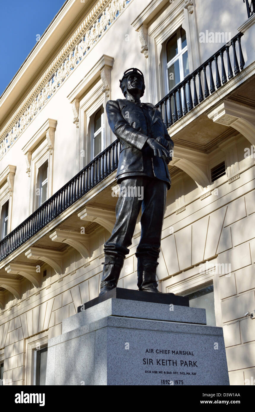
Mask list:
[[65,0],[0,0],[0,95]]

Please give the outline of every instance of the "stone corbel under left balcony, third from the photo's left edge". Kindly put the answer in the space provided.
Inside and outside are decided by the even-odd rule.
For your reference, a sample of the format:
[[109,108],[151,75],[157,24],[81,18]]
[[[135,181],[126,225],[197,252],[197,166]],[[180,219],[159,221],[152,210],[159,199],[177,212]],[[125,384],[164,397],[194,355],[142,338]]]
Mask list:
[[57,250],[32,247],[25,252],[28,259],[42,260],[47,265],[53,267],[57,275],[62,274],[62,253]]

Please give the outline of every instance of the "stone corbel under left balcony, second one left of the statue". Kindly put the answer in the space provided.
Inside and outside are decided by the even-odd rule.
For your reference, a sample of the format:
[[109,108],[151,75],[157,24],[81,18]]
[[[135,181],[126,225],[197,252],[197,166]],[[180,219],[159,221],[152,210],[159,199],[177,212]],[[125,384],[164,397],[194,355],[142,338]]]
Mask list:
[[49,235],[54,242],[66,243],[78,250],[82,258],[89,258],[89,236],[63,229],[56,229]]

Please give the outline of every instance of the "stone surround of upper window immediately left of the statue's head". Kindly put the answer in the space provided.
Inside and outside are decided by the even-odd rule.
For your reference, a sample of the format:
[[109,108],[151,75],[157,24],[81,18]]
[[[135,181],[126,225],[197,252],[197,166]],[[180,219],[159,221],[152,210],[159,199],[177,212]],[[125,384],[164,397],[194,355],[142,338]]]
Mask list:
[[[103,54],[88,71],[84,79],[67,96],[73,108],[73,123],[76,125],[76,172],[78,173],[91,161],[91,133],[89,118],[111,98],[111,70],[113,57]],[[92,85],[94,86],[92,87]],[[89,138],[87,138],[89,136]],[[104,146],[111,143],[111,131],[106,115],[104,116]],[[84,152],[82,152],[84,151]],[[85,155],[82,156],[81,154]]]

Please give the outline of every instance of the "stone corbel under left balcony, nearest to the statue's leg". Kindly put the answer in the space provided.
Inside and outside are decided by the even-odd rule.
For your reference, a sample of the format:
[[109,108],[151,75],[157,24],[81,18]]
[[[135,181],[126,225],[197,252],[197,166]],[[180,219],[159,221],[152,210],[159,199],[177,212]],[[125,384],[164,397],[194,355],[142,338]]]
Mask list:
[[91,206],[86,206],[82,211],[80,211],[78,213],[78,218],[89,222],[96,222],[98,225],[105,227],[105,229],[107,229],[110,233],[112,233],[112,229],[116,221],[115,212],[94,208]]

